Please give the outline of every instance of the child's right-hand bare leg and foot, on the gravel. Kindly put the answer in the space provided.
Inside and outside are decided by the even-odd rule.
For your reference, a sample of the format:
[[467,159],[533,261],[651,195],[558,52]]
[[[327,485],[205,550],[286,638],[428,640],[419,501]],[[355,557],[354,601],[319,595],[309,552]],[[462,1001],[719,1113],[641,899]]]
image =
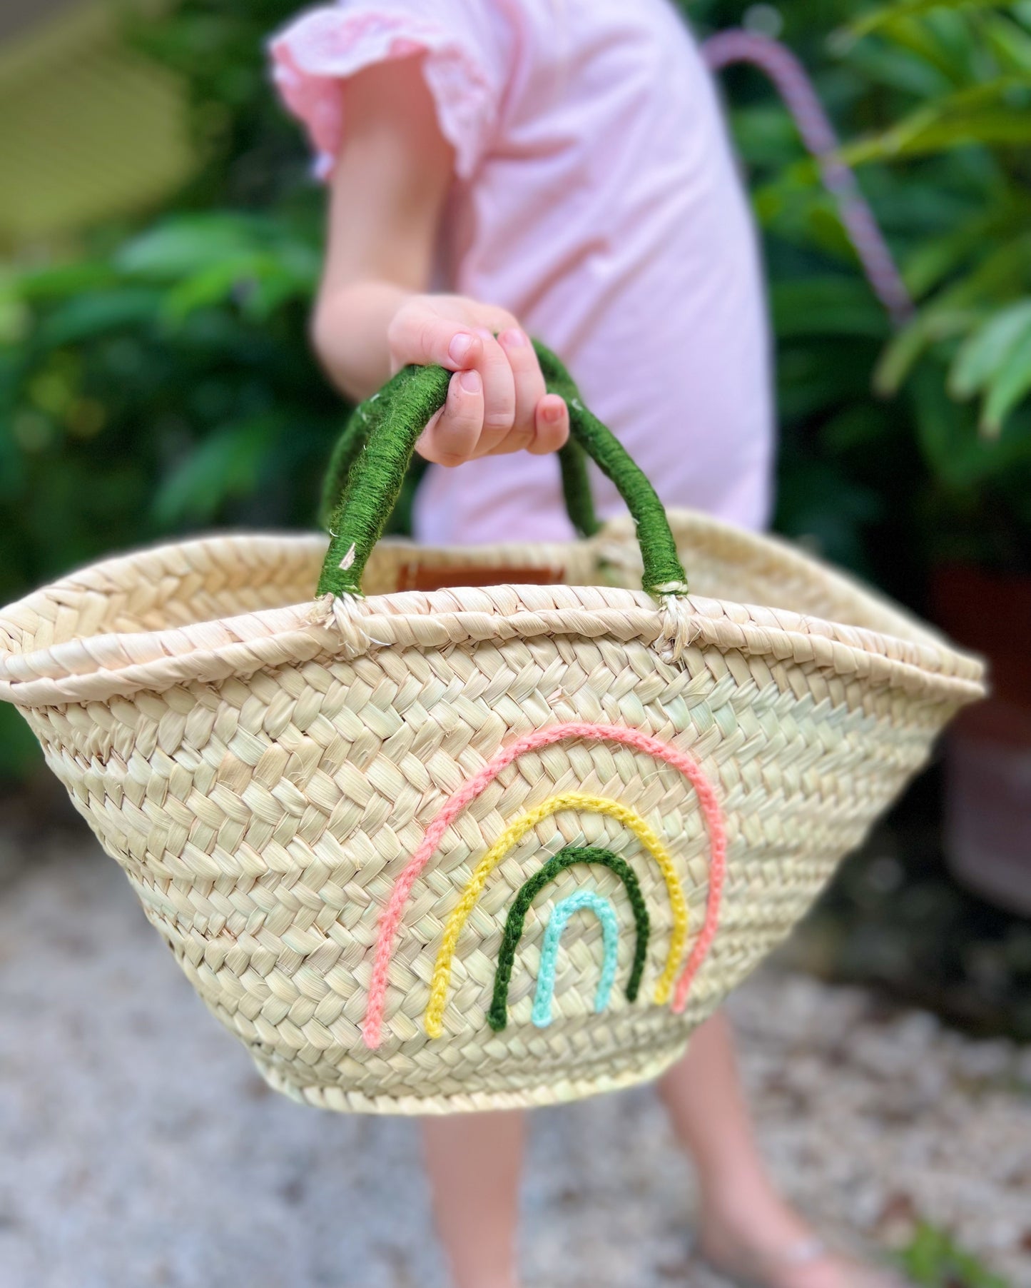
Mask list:
[[893,1276],[824,1252],[777,1194],[759,1158],[738,1078],[734,1038],[720,1012],[692,1036],[659,1083],[681,1144],[698,1168],[701,1251],[770,1288],[892,1288]]

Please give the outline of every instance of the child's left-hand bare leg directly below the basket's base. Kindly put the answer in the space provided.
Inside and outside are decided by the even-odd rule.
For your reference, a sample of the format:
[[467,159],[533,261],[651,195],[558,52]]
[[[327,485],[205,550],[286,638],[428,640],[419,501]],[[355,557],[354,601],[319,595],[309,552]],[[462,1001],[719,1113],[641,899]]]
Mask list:
[[523,1113],[423,1119],[426,1170],[454,1288],[516,1288]]

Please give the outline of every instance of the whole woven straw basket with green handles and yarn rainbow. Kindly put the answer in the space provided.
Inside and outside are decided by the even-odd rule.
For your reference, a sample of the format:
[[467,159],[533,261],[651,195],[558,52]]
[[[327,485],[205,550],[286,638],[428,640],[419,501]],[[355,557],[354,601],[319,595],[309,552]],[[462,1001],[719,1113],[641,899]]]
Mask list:
[[[377,545],[447,392],[409,368],[341,439],[328,555],[187,541],[0,614],[0,697],[209,1009],[309,1104],[660,1073],[982,693],[976,659],[815,560],[667,523],[539,353],[577,544]],[[584,448],[636,528],[597,528]]]

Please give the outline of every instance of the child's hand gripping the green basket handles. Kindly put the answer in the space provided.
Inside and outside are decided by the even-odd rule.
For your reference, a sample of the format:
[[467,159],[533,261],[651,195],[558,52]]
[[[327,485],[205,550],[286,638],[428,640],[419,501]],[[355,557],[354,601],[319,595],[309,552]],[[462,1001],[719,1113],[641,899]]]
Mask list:
[[418,440],[427,461],[542,455],[569,437],[566,406],[546,392],[533,345],[511,313],[461,295],[413,295],[394,314],[387,344],[394,371],[413,362],[454,372],[447,404]]

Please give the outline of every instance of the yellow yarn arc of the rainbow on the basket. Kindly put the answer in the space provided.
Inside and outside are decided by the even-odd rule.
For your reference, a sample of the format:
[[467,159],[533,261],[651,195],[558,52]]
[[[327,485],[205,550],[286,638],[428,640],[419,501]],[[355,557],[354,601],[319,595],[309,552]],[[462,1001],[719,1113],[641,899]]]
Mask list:
[[430,1001],[423,1018],[426,1032],[431,1038],[439,1038],[444,1032],[444,1007],[448,1001],[450,969],[454,961],[454,951],[458,947],[458,936],[476,900],[483,894],[487,878],[530,828],[537,827],[538,823],[542,823],[552,814],[566,809],[605,814],[609,818],[614,818],[633,832],[641,842],[642,849],[659,864],[663,877],[665,877],[667,890],[669,891],[669,905],[673,912],[673,933],[669,936],[669,952],[665,957],[665,967],[655,985],[655,1003],[664,1006],[669,1001],[677,967],[687,947],[687,900],[683,898],[683,889],[673,867],[672,855],[656,832],[649,827],[640,814],[627,805],[606,800],[604,796],[588,796],[583,792],[562,792],[559,796],[552,796],[542,801],[541,805],[528,810],[525,814],[520,814],[517,819],[510,823],[476,864],[476,869],[469,878],[462,891],[462,898],[458,900],[454,912],[452,912],[444,927],[444,939],[440,944],[440,952],[436,954],[436,965],[434,966],[432,981],[430,984]]

